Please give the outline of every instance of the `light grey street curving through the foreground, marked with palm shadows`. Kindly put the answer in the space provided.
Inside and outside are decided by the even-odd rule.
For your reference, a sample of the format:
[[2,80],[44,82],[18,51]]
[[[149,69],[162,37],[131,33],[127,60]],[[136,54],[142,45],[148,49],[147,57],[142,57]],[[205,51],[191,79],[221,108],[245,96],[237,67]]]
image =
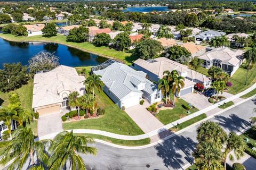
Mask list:
[[[249,118],[253,116],[254,107],[255,98],[215,116],[211,121],[218,122],[226,132],[239,132],[250,125]],[[182,169],[189,163],[191,152],[196,147],[196,128],[146,149],[118,149],[95,143],[98,155],[83,158],[87,169]]]

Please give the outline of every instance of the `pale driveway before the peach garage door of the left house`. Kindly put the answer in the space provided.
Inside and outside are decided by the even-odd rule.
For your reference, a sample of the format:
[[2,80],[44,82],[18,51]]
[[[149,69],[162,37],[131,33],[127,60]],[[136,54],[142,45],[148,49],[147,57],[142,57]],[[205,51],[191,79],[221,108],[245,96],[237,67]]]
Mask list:
[[61,123],[61,114],[54,113],[45,116],[39,116],[37,123],[38,137],[43,135],[63,131]]

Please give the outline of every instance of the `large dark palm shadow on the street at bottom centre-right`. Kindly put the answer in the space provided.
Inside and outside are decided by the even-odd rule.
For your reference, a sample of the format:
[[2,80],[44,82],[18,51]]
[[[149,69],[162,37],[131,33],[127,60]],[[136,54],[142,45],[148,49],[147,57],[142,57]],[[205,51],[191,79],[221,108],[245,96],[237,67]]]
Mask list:
[[[172,131],[167,131],[169,135],[173,135]],[[162,133],[159,133],[159,138],[166,137]],[[192,153],[196,149],[197,143],[191,138],[184,137],[183,135],[175,135],[174,137],[163,141],[155,146],[157,150],[157,156],[163,159],[164,166],[168,169],[182,169],[182,166],[186,164],[186,161],[191,163]]]

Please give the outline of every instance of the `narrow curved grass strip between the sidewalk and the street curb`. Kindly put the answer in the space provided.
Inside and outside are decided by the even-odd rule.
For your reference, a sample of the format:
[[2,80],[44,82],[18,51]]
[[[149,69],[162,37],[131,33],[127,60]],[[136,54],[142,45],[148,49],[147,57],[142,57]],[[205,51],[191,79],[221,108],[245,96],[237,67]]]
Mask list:
[[105,137],[102,135],[98,134],[77,134],[77,135],[85,135],[87,137],[91,137],[93,139],[100,139],[104,140],[110,143],[114,143],[116,145],[123,145],[123,146],[143,146],[143,145],[148,145],[150,143],[150,139],[142,139],[142,140],[120,140],[120,139],[114,139],[114,138],[109,138]]

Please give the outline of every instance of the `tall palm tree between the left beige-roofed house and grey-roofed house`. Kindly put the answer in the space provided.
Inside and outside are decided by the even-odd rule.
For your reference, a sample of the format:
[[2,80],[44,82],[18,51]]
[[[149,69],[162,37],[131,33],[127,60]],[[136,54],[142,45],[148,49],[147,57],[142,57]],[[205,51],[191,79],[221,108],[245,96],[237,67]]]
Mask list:
[[98,89],[99,91],[102,91],[102,88],[104,87],[103,81],[100,80],[101,75],[92,74],[90,77],[88,77],[84,81],[84,85],[87,85],[89,89],[92,89],[92,96],[94,97],[94,89]]

